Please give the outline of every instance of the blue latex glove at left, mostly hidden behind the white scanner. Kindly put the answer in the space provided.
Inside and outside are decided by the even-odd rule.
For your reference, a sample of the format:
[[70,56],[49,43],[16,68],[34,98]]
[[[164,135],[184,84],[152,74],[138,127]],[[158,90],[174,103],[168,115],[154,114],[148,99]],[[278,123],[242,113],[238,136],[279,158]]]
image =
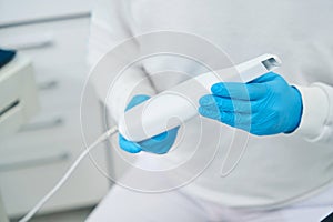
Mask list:
[[[125,111],[130,110],[137,104],[140,104],[141,102],[148,100],[149,98],[150,97],[143,94],[138,94],[133,97],[130,103],[128,104]],[[170,148],[173,145],[174,140],[176,138],[178,130],[179,128],[174,128],[172,130],[158,134],[151,139],[143,140],[140,142],[128,141],[121,134],[119,134],[119,145],[121,149],[130,153],[138,153],[141,150],[143,150],[147,152],[163,154],[167,153],[170,150]]]

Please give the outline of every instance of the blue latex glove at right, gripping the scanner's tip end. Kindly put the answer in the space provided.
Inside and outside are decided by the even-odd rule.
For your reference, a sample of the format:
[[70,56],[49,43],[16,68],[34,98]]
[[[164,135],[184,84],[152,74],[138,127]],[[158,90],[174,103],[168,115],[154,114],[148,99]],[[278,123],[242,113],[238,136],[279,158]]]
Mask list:
[[300,124],[301,93],[276,73],[249,83],[216,83],[211,91],[199,101],[203,117],[256,135],[290,133]]

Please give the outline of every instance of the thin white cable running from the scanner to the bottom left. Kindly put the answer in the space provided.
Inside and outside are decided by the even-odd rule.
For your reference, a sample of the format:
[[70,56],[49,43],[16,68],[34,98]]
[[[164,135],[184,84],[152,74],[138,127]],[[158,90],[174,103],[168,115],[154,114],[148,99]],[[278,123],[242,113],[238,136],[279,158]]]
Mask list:
[[47,195],[44,195],[36,205],[33,209],[31,209],[19,222],[28,222],[42,206],[46,204],[46,202],[52,198],[52,195],[64,184],[64,182],[69,179],[69,176],[73,173],[73,171],[78,168],[80,162],[85,158],[89,152],[95,148],[99,143],[107,140],[112,134],[117,133],[118,129],[117,127],[111,128],[107,132],[104,132],[101,137],[99,137],[91,145],[89,145],[75,160],[75,162],[70,167],[70,169],[65,172],[65,174],[61,178],[61,180],[54,185],[54,188],[49,191]]

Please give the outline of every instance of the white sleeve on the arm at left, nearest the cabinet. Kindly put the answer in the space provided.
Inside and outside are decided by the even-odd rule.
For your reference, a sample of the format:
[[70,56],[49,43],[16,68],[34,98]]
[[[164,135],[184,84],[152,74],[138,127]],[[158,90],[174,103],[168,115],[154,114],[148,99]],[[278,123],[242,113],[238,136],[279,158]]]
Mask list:
[[[131,38],[133,26],[131,1],[97,0],[92,11],[89,38],[88,61],[90,67],[94,67],[111,49]],[[139,50],[139,46],[132,47]],[[152,95],[155,93],[149,75],[143,71],[140,63],[129,68],[121,78],[117,77],[118,73],[103,72],[103,74],[102,77],[99,75],[98,79],[92,79],[92,84],[115,123],[118,123],[119,115],[123,113],[127,103],[134,94]],[[107,80],[110,80],[110,78],[117,79],[117,81],[112,82],[112,97],[107,99],[105,95],[111,87],[110,81]],[[138,83],[140,83],[139,87]],[[134,88],[135,91],[133,91]]]

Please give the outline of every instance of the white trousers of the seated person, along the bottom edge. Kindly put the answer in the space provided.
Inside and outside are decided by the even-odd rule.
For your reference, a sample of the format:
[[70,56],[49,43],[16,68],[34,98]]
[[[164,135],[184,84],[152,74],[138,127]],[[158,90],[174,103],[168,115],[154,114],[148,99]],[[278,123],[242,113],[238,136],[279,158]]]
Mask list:
[[333,188],[303,202],[270,211],[244,211],[195,199],[182,189],[142,193],[114,185],[87,222],[316,222],[333,211]]

